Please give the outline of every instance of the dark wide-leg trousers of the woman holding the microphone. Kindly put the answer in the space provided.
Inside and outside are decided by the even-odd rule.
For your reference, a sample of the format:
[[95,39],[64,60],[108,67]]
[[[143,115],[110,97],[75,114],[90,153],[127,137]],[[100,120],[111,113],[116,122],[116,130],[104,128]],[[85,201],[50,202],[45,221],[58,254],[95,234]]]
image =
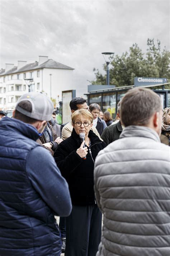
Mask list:
[[66,217],[65,256],[95,256],[101,240],[102,214],[95,205],[72,206]]

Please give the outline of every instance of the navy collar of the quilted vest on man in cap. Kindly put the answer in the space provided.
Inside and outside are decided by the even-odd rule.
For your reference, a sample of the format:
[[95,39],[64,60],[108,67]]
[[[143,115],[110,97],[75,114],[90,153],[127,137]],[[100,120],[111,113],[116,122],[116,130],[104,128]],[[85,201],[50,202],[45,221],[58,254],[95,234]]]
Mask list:
[[33,125],[24,123],[15,118],[2,118],[2,120],[0,120],[0,129],[1,128],[8,131],[15,131],[16,133],[20,133],[32,140],[37,140],[40,136],[37,129]]

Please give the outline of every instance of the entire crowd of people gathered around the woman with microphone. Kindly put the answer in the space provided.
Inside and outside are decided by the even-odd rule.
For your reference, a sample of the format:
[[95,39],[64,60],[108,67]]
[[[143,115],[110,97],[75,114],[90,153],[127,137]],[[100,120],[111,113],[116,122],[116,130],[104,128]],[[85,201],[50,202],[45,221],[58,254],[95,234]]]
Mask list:
[[79,97],[70,116],[42,93],[0,111],[0,255],[170,255],[170,107],[138,87],[115,121]]

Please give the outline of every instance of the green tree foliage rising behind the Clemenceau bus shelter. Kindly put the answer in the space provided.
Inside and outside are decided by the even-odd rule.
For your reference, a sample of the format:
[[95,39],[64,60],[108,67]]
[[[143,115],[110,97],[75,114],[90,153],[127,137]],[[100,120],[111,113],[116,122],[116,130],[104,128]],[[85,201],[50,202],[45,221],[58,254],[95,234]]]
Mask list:
[[[164,47],[161,52],[161,43],[154,39],[147,39],[147,52],[142,50],[135,43],[129,51],[122,56],[113,56],[110,64],[110,84],[116,86],[128,86],[134,84],[134,77],[166,77],[170,79],[170,52]],[[110,66],[111,66],[110,65]],[[106,70],[106,64],[103,65]],[[98,69],[93,69],[96,79],[92,84],[106,84],[106,75],[101,75]]]

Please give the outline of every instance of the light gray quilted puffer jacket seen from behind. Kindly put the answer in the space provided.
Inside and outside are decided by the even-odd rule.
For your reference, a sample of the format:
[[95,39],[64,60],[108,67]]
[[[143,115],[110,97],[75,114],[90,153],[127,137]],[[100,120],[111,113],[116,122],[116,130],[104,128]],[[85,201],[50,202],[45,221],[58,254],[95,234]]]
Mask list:
[[158,134],[128,126],[95,161],[95,196],[104,213],[96,256],[170,255],[170,154]]

